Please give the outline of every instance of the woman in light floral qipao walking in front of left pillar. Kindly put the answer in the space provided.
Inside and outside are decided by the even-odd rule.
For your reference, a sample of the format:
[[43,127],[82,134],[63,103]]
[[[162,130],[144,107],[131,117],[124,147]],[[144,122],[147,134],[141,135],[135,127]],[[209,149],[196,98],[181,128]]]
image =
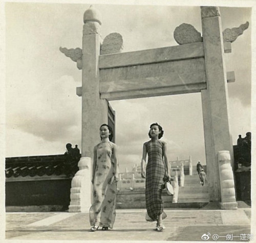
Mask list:
[[94,147],[93,156],[93,204],[89,210],[91,231],[113,228],[116,216],[118,181],[117,146],[111,142],[113,131],[102,124],[99,129],[101,141]]

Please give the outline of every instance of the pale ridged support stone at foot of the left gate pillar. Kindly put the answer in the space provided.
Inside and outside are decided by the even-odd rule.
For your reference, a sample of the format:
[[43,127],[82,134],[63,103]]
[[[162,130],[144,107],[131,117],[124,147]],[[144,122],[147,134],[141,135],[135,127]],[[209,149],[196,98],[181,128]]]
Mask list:
[[91,158],[81,157],[71,181],[69,212],[88,212],[91,206]]

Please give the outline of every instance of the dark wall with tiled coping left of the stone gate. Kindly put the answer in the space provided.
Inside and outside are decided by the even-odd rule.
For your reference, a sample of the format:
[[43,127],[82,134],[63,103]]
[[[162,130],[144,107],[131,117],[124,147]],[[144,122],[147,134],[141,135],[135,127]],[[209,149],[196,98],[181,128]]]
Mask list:
[[64,211],[79,158],[69,155],[6,158],[6,211]]

